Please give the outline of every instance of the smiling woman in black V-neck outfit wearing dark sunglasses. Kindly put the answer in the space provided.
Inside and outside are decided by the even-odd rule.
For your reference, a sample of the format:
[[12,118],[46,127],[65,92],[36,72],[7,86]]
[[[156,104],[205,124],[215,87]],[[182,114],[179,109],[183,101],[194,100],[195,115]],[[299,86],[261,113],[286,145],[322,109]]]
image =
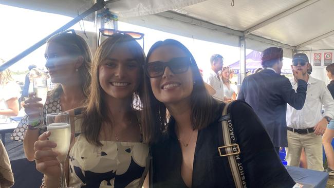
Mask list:
[[[225,103],[207,92],[190,51],[175,40],[147,54],[143,99],[145,139],[152,142],[153,187],[234,187],[218,152]],[[247,187],[292,187],[261,121],[242,101],[230,106]],[[166,110],[170,116],[166,117]]]

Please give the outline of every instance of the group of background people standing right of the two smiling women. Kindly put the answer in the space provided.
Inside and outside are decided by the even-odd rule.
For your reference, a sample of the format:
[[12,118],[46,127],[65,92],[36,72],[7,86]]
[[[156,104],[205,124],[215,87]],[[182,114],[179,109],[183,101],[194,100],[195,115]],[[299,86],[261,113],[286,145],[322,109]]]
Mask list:
[[[214,89],[221,90],[220,100],[230,100],[228,67],[223,67],[219,54],[211,57],[212,71],[206,80]],[[276,153],[284,147],[288,165],[307,167],[334,175],[334,64],[326,67],[330,84],[310,76],[312,66],[305,53],[293,56],[293,78],[281,75],[283,49],[271,47],[262,55],[263,68],[243,81],[237,99],[246,101],[261,119]],[[218,68],[216,68],[218,67]],[[221,69],[221,72],[217,71]],[[215,73],[213,73],[215,72]],[[221,87],[222,86],[222,87]],[[224,89],[221,89],[224,88]],[[323,149],[328,168],[323,167]],[[303,156],[305,155],[305,156]],[[302,161],[301,161],[302,158]]]

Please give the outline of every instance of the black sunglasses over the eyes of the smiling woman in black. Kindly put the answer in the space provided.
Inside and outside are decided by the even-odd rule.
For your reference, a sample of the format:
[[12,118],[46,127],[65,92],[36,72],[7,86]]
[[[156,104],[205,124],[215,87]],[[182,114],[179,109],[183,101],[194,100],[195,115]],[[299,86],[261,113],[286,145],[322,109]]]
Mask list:
[[155,61],[144,65],[144,70],[148,77],[161,77],[166,67],[168,67],[174,74],[187,72],[189,66],[192,64],[190,57],[173,58],[169,62]]

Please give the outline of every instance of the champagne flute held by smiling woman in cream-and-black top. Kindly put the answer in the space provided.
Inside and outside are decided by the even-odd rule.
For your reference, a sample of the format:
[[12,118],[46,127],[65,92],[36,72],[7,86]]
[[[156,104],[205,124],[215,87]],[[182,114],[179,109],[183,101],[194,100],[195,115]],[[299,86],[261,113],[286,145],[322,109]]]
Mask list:
[[64,164],[67,159],[69,144],[71,140],[71,126],[68,112],[60,112],[46,115],[46,125],[51,135],[49,140],[55,142],[57,146],[52,151],[57,153],[57,160],[60,162],[61,169],[61,188],[67,187],[64,173]]

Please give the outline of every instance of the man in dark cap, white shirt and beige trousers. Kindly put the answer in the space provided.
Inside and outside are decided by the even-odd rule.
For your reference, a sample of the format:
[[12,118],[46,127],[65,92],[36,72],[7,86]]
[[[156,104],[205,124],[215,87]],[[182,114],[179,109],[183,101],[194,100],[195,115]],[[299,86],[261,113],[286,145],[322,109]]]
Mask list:
[[[307,81],[307,93],[302,109],[287,106],[287,135],[288,147],[286,160],[288,165],[299,166],[301,151],[304,148],[307,168],[324,171],[322,154],[322,135],[327,124],[334,117],[334,100],[326,84],[311,77],[307,72],[310,69],[308,57],[305,53],[293,56],[291,68],[300,71]],[[293,89],[297,89],[299,82],[290,80]],[[322,105],[324,113],[321,114]]]

